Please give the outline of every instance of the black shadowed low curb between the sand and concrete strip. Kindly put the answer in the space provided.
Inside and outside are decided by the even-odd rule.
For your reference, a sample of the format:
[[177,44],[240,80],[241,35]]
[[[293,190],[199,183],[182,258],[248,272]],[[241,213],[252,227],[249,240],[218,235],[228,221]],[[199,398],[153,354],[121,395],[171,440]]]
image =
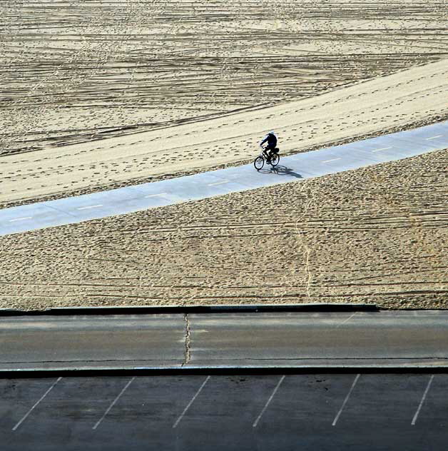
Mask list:
[[288,313],[288,312],[376,312],[376,304],[284,304],[284,305],[113,305],[110,307],[56,307],[45,310],[0,309],[0,317],[8,316],[73,316],[73,315],[160,315],[168,313]]

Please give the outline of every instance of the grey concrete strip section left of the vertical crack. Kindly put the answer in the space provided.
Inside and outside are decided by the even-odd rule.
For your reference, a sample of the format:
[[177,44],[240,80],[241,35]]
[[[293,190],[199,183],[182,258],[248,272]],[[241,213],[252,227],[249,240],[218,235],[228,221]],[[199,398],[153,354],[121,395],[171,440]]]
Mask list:
[[175,368],[184,315],[0,318],[0,370]]

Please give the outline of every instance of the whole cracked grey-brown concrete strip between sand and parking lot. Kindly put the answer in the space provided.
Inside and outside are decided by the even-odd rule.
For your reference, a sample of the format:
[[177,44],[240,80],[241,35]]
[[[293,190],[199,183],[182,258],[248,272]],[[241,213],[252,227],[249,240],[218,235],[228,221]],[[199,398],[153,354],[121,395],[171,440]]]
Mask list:
[[0,370],[448,368],[448,310],[0,318]]

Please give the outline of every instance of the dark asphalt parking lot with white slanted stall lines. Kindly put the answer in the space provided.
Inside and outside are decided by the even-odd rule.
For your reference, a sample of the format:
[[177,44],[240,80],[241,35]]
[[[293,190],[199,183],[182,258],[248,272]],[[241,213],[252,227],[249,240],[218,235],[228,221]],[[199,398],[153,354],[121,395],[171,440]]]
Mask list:
[[446,450],[448,374],[0,380],[1,450]]

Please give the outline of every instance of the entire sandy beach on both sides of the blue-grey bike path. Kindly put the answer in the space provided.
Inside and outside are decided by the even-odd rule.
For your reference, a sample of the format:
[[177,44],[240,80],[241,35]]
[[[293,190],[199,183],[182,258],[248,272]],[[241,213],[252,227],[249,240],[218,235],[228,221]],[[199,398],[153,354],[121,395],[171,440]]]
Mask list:
[[[442,2],[2,6],[0,208],[448,118]],[[447,308],[448,151],[0,238],[0,307]]]

